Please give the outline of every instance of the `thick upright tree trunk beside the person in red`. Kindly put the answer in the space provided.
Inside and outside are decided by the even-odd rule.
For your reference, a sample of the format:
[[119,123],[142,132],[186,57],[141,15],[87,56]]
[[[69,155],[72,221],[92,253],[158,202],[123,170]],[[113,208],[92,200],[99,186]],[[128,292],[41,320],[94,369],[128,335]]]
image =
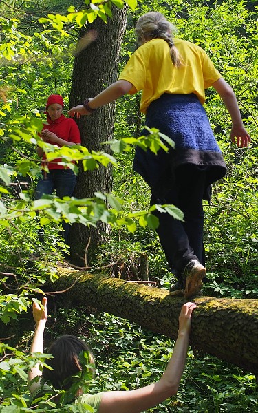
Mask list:
[[[101,19],[96,19],[87,25],[87,31],[95,30],[98,34],[96,41],[82,50],[74,59],[74,72],[72,76],[72,90],[69,105],[73,107],[82,103],[85,98],[93,98],[108,85],[117,80],[118,61],[122,36],[125,32],[127,7],[120,10],[112,8],[113,18],[107,24]],[[81,30],[80,37],[85,35]],[[108,145],[102,142],[113,138],[114,128],[114,103],[99,108],[90,116],[83,116],[77,120],[82,138],[82,145],[89,151],[109,152]],[[100,166],[94,171],[83,171],[80,165],[76,189],[76,198],[89,198],[94,192],[111,193],[112,171],[111,167]],[[105,224],[98,224],[98,228],[88,228],[81,224],[72,227],[69,233],[69,244],[74,250],[83,255],[85,246],[90,237],[90,249],[96,248],[105,239],[109,231]]]

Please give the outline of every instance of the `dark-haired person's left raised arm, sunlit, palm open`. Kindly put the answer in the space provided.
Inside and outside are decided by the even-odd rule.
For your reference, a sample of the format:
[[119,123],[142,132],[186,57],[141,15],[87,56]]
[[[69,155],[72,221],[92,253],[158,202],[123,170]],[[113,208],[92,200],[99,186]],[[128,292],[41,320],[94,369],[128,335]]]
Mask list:
[[[44,335],[44,330],[45,330],[45,323],[47,321],[47,298],[44,297],[42,300],[42,306],[41,308],[39,304],[36,304],[33,302],[32,305],[32,311],[33,311],[33,317],[34,321],[36,323],[36,329],[34,332],[34,337],[32,339],[32,344],[30,346],[30,353],[34,352],[39,352],[43,353],[43,335]],[[37,376],[41,376],[42,372],[39,370],[39,364],[36,364],[36,366],[32,367],[28,371],[28,382],[30,386],[30,381],[34,379]],[[33,385],[38,386],[37,383],[32,383],[30,386],[30,390],[33,391]]]

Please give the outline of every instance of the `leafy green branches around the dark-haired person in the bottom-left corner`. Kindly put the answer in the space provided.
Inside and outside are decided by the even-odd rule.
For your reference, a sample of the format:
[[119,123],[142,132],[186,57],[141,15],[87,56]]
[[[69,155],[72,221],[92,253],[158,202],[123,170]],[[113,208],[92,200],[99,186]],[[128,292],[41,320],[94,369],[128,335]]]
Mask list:
[[[50,368],[47,365],[47,360],[52,358],[50,354],[34,353],[25,354],[0,343],[0,399],[4,395],[1,402],[0,412],[81,412],[82,403],[72,403],[74,394],[78,387],[83,389],[83,392],[89,392],[89,383],[92,381],[92,365],[89,363],[89,354],[82,352],[80,361],[84,366],[83,370],[74,376],[74,383],[68,392],[55,391],[46,393],[44,396],[32,400],[32,396],[28,391],[27,371],[40,363],[41,368]],[[55,396],[60,396],[56,401]],[[83,404],[89,412],[94,413],[94,409]]]

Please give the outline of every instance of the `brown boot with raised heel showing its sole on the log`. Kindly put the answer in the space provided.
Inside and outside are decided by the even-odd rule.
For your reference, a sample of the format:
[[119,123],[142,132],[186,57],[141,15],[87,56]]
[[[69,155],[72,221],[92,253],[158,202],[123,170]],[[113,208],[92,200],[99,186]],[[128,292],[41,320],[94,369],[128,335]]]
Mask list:
[[205,267],[198,260],[191,260],[184,268],[184,298],[192,297],[202,290],[202,279],[206,275]]

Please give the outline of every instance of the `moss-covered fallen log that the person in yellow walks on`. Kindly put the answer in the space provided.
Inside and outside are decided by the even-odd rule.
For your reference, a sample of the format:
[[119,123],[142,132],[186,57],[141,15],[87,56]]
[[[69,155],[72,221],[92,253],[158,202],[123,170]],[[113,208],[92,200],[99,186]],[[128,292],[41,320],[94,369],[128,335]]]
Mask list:
[[[64,293],[68,301],[123,317],[174,339],[177,337],[178,315],[185,302],[182,297],[171,297],[160,288],[71,272],[68,268],[61,268],[59,275],[54,290],[65,290],[77,279]],[[214,297],[195,297],[192,301],[197,303],[192,318],[192,348],[257,375],[258,301]]]

